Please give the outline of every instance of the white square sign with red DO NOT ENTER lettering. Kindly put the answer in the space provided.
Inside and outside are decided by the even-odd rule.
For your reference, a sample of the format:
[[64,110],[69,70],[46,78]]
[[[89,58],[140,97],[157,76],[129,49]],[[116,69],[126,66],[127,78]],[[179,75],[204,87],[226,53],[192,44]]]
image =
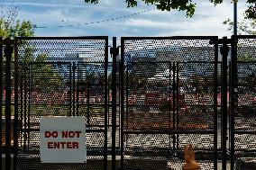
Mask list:
[[87,160],[84,117],[43,117],[40,121],[42,163],[84,163]]

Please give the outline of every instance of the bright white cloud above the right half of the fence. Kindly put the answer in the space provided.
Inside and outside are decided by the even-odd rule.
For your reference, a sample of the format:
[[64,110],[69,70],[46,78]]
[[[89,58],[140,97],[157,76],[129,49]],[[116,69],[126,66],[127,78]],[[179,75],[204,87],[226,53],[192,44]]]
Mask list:
[[[245,7],[239,10],[239,16]],[[186,18],[184,13],[152,11],[143,13],[139,18],[124,22],[127,27],[147,30],[151,36],[173,35],[215,35],[230,36],[231,32],[223,22],[233,18],[233,4],[224,2],[214,6],[209,2],[197,3],[197,10],[192,18]],[[158,31],[159,30],[159,31]]]

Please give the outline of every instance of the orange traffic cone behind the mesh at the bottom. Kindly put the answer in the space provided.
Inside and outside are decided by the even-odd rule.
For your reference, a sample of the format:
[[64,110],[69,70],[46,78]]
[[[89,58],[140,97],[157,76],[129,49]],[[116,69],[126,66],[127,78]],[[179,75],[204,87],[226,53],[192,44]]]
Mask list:
[[195,153],[192,145],[189,144],[189,151],[187,151],[187,145],[184,148],[186,164],[183,166],[183,170],[199,170],[200,166],[195,160]]

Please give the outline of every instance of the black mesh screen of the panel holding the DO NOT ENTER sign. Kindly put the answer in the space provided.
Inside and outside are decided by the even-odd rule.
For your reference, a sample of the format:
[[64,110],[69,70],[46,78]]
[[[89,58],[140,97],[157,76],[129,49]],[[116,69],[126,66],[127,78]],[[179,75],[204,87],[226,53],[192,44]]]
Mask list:
[[[18,40],[16,168],[103,169],[107,37]],[[87,118],[87,163],[41,164],[39,126],[43,116]]]

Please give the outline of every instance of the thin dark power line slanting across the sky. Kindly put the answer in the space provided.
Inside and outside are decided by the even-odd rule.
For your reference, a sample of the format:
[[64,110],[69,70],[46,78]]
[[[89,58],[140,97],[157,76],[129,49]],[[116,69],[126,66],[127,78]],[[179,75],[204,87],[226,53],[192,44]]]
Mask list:
[[147,13],[147,12],[152,11],[154,9],[155,8],[151,8],[151,9],[141,11],[141,12],[138,12],[138,13],[127,14],[127,15],[116,17],[116,18],[110,18],[110,19],[97,21],[97,22],[85,22],[85,23],[77,23],[77,24],[69,24],[69,25],[55,25],[55,26],[37,26],[37,25],[34,25],[33,28],[35,28],[35,29],[47,29],[47,28],[53,28],[53,27],[55,27],[55,28],[64,28],[64,27],[75,27],[75,26],[81,26],[81,25],[89,25],[89,24],[100,23],[100,22],[111,22],[111,21],[120,20],[120,19],[123,19],[123,18],[128,18],[130,16],[140,14],[140,13]]

